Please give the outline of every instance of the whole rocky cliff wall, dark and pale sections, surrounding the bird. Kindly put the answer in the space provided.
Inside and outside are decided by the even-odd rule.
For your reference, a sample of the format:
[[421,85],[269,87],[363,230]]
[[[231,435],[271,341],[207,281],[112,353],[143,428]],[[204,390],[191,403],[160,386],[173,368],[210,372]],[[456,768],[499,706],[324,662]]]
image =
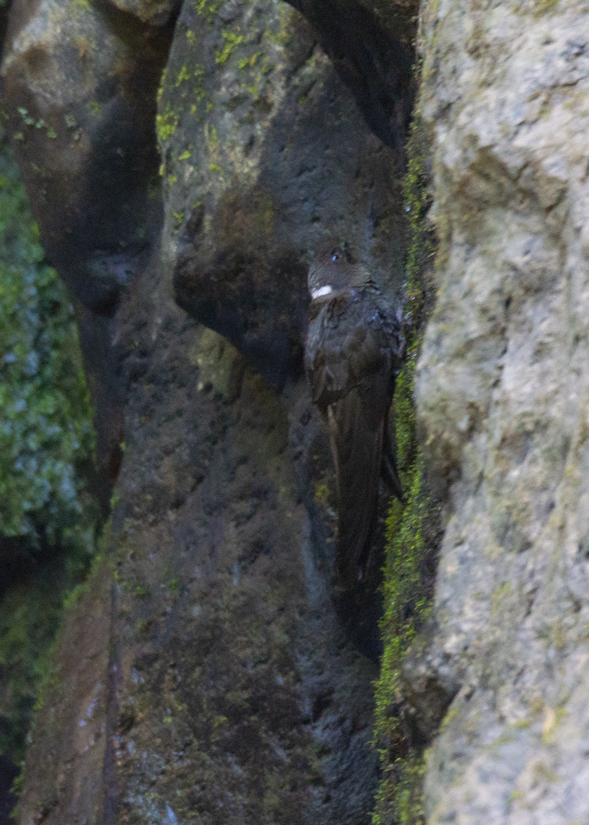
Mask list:
[[[587,11],[422,6],[439,249],[416,399],[444,535],[427,639],[385,711],[422,747],[455,696],[431,823],[588,815]],[[330,596],[304,274],[345,235],[398,300],[413,87],[392,27],[410,44],[414,12],[12,8],[9,130],[118,477],[45,686],[26,825],[370,819],[378,582]]]

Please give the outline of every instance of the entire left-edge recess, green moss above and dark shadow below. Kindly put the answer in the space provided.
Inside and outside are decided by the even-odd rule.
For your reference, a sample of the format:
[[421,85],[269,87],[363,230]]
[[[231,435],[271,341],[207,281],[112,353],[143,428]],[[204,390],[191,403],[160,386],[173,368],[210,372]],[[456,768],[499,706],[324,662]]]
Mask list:
[[94,437],[73,309],[0,145],[0,755],[16,764],[64,596],[95,550]]

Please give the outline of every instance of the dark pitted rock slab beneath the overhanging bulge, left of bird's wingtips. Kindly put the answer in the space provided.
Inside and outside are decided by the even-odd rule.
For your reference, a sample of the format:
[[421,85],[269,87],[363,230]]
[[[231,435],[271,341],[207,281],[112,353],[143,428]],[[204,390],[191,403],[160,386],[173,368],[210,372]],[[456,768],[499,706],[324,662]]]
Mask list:
[[[44,822],[64,822],[69,788],[94,781],[76,797],[87,822],[368,823],[376,665],[338,618],[329,543],[298,492],[285,401],[310,407],[304,388],[280,397],[147,286],[128,308],[112,601],[93,620],[92,676],[107,686],[92,705],[97,733],[87,741],[86,659],[68,658],[66,632],[21,821],[57,787]],[[104,575],[87,598],[101,598]],[[85,602],[70,624],[83,615]],[[54,748],[55,724],[71,731],[78,717],[84,741]]]

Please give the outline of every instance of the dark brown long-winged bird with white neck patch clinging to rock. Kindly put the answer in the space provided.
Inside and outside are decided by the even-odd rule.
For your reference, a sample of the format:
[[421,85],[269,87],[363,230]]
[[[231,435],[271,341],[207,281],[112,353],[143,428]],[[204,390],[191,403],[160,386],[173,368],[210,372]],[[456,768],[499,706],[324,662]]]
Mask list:
[[402,502],[389,439],[389,410],[404,349],[395,313],[347,243],[331,243],[309,268],[305,372],[327,419],[337,484],[334,587],[365,580],[381,475]]

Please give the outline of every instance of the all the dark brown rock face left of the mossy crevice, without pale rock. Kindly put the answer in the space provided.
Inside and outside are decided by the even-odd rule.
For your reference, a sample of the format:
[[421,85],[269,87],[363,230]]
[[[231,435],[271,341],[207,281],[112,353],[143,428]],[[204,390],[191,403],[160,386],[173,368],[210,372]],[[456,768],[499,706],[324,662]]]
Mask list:
[[327,233],[391,300],[403,282],[411,78],[371,5],[349,60],[280,0],[12,7],[8,128],[118,479],[23,825],[370,821],[377,582],[332,600],[328,437],[301,355]]

